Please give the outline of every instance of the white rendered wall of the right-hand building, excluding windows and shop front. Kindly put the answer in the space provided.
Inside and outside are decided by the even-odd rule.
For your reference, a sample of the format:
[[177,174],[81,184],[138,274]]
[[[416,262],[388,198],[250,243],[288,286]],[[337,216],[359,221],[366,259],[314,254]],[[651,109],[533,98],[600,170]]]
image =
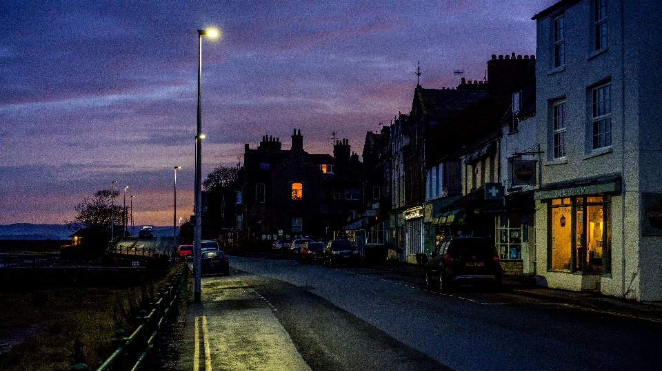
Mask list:
[[[591,1],[565,9],[565,68],[552,68],[552,21],[537,20],[536,126],[542,185],[620,173],[612,197],[612,274],[606,295],[662,300],[662,236],[642,235],[642,192],[662,193],[662,1],[608,0],[608,50],[592,53]],[[623,46],[624,45],[624,46]],[[592,151],[591,88],[610,81],[612,146]],[[552,102],[565,98],[566,159],[552,160]],[[547,272],[547,207],[537,202],[538,273],[550,287],[579,290],[587,276]]]

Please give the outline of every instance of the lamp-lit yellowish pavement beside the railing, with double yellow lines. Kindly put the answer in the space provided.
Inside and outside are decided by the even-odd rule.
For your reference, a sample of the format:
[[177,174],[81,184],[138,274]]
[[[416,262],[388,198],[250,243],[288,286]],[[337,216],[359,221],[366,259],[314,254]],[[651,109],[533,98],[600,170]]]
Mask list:
[[203,285],[188,307],[177,370],[310,371],[269,304],[227,278]]

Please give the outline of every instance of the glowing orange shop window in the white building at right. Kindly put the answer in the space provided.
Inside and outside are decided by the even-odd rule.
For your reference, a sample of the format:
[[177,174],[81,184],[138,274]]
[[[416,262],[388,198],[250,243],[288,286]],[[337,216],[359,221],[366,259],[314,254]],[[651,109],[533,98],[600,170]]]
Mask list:
[[550,211],[549,268],[554,271],[611,273],[610,197],[554,199]]

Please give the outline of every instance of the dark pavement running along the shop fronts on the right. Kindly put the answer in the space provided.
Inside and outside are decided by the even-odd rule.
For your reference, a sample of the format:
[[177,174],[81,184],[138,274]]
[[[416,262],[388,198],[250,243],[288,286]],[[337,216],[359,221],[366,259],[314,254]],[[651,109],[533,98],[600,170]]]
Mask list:
[[[403,262],[369,262],[366,266],[385,271],[399,272],[403,275],[419,277],[421,284],[425,273],[423,268]],[[558,288],[536,286],[534,277],[528,275],[504,276],[503,290],[507,293],[525,297],[535,297],[570,306],[579,306],[588,310],[608,312],[612,315],[639,317],[662,322],[662,302],[641,302],[618,297],[609,297],[596,291],[570,291]]]

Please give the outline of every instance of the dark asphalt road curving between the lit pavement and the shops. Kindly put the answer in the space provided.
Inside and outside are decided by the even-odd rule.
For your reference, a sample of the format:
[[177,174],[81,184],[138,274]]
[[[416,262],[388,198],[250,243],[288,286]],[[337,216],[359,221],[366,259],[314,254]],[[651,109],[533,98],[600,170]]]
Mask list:
[[[372,268],[231,257],[312,370],[659,370],[662,324]],[[211,285],[211,286],[210,286]],[[265,305],[265,304],[263,304]],[[219,305],[222,306],[222,303]],[[268,370],[269,368],[264,368]]]

